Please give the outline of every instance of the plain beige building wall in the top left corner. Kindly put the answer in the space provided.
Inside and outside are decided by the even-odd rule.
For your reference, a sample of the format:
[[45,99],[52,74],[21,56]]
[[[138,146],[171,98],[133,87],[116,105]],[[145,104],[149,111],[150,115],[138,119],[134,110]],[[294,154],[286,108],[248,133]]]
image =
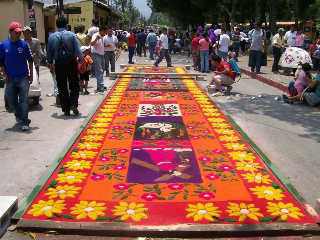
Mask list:
[[[40,42],[45,41],[43,6],[42,2],[34,1],[37,38]],[[0,16],[0,41],[8,38],[9,25],[12,22],[19,22],[22,28],[30,27],[27,0],[0,0]],[[23,34],[21,35],[22,38]]]

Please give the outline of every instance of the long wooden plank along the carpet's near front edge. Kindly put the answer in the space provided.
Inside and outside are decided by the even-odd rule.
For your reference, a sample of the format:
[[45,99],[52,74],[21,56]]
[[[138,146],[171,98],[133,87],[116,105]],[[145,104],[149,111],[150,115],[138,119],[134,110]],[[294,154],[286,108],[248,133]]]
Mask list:
[[[164,203],[165,204],[165,203]],[[120,236],[120,237],[244,237],[244,236],[299,236],[320,234],[317,224],[199,224],[179,223],[172,226],[139,226],[124,222],[59,222],[20,219],[17,230],[32,232],[57,231],[60,234]]]

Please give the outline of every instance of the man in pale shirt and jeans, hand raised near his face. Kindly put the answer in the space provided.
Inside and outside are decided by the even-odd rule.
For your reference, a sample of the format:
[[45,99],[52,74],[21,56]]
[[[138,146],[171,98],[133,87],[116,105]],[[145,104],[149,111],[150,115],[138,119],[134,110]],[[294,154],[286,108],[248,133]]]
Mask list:
[[91,38],[91,52],[96,71],[97,89],[99,92],[104,92],[103,90],[107,89],[103,83],[103,73],[105,70],[103,36],[107,34],[107,29],[106,25],[101,25],[99,32],[93,34]]

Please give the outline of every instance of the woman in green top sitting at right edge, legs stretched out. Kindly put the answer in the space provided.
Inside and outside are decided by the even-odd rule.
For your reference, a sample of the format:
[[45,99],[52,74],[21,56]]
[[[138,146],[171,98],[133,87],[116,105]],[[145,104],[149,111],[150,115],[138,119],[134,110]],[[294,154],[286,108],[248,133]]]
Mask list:
[[300,101],[303,95],[303,100],[306,100],[310,106],[314,106],[320,102],[320,67],[317,68],[317,76],[315,80],[309,85],[310,88],[315,89],[314,92],[301,92],[297,96],[289,97],[285,94],[282,95],[283,101],[288,104]]

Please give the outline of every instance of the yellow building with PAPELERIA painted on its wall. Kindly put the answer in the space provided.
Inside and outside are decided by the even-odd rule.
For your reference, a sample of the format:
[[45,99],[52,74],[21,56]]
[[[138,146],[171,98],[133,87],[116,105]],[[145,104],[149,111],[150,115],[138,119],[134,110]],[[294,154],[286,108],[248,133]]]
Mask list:
[[[85,0],[64,4],[64,8],[68,7],[81,7],[82,11],[81,14],[64,15],[69,19],[69,26],[71,26],[71,31],[73,31],[74,27],[79,24],[84,24],[86,30],[88,30],[89,28],[91,28],[92,19],[99,20],[100,25],[104,24],[109,27],[114,26],[115,28],[119,29],[122,27],[120,20],[123,18],[123,14],[113,8],[113,22],[111,22],[111,7],[97,0]],[[45,4],[44,22],[46,28],[53,28],[57,30],[55,26],[55,19],[57,18],[57,15],[55,13],[56,8],[57,6],[54,4]]]

